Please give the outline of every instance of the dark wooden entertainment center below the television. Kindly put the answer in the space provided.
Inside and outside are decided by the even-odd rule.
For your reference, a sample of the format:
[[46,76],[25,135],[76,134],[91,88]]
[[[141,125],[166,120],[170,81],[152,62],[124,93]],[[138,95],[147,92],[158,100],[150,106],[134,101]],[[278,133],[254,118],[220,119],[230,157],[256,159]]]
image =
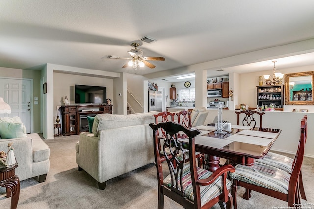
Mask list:
[[87,117],[100,113],[112,114],[112,105],[63,105],[61,111],[62,134],[68,136],[88,131]]

